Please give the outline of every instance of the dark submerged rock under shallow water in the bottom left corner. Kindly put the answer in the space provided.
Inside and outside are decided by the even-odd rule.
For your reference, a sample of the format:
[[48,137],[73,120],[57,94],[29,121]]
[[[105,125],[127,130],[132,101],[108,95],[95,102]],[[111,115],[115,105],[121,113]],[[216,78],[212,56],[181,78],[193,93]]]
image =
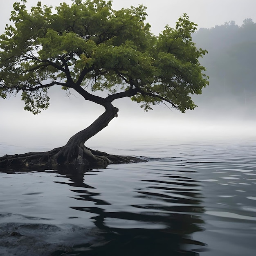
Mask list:
[[[1,256],[53,256],[90,247],[101,240],[100,231],[75,225],[4,223],[0,225]],[[70,255],[70,254],[69,254]]]

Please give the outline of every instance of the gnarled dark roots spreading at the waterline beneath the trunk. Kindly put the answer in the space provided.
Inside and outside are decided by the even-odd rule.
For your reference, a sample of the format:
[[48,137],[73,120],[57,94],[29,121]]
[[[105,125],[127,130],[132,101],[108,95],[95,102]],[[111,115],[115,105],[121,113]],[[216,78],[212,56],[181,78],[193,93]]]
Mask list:
[[64,146],[47,152],[5,155],[0,157],[0,168],[6,169],[61,169],[61,168],[106,168],[108,164],[146,162],[132,156],[109,155],[85,146]]

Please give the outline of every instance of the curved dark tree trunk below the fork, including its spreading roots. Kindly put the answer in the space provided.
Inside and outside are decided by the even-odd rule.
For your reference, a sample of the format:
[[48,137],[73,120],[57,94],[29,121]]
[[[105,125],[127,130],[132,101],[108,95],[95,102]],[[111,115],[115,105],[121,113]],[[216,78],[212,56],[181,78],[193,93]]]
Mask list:
[[118,108],[111,103],[104,106],[106,111],[98,117],[90,126],[72,136],[67,144],[61,148],[54,148],[48,152],[26,153],[22,155],[5,155],[0,157],[1,168],[63,168],[74,166],[76,168],[87,167],[105,168],[110,163],[142,162],[144,160],[136,157],[123,157],[109,155],[97,150],[85,147],[85,141],[96,135],[108,123],[117,117]]

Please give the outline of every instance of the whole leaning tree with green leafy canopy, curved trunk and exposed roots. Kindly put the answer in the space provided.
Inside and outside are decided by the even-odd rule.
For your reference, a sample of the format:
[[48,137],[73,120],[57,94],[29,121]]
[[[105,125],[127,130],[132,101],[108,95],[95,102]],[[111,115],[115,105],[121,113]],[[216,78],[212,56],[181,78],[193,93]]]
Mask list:
[[[105,112],[61,148],[44,153],[4,156],[4,166],[106,166],[129,160],[90,150],[85,141],[117,117],[112,105],[130,97],[146,111],[164,103],[185,112],[195,108],[191,94],[208,85],[191,34],[196,24],[184,14],[173,29],[150,33],[146,7],[113,10],[111,1],[73,0],[56,7],[41,2],[27,11],[26,0],[15,2],[5,33],[0,36],[0,96],[22,92],[25,110],[38,114],[49,106],[47,90],[74,90]],[[107,97],[95,95],[108,91]]]

